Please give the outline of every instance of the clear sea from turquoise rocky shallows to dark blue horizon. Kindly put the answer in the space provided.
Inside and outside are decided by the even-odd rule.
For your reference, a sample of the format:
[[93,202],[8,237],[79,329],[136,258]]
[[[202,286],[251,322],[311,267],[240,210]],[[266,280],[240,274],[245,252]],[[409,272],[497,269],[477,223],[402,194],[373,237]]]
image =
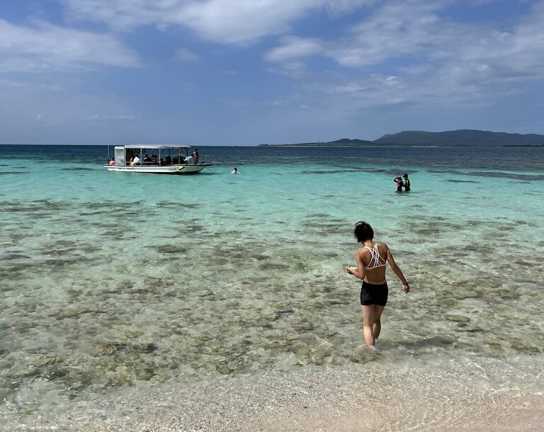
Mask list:
[[[108,151],[0,146],[6,430],[266,376],[542,395],[544,148],[199,147],[195,176],[108,172]],[[376,353],[343,270],[358,220],[412,290],[387,270]]]

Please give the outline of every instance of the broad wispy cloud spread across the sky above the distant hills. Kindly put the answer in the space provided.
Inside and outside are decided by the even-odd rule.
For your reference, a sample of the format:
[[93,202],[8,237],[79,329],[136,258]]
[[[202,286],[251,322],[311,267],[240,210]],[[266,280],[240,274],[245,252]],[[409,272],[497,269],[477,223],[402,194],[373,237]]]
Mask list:
[[[345,73],[335,78],[299,64],[298,74],[292,76],[300,78],[310,93],[344,95],[355,106],[492,103],[494,98],[516,92],[516,84],[544,79],[543,2],[509,31],[499,30],[492,22],[443,18],[446,4],[422,0],[383,3],[344,37],[319,43],[283,38],[265,58],[279,63],[286,73],[304,57],[330,57]],[[361,76],[360,69],[368,74]],[[374,70],[390,75],[372,74]],[[311,85],[307,84],[310,79]]]

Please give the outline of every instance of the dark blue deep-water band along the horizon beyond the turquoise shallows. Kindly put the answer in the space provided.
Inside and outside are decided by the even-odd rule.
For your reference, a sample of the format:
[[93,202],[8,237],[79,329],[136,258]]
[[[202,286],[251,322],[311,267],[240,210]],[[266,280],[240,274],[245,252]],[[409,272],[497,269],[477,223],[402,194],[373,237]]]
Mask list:
[[[106,163],[113,146],[2,145],[2,159],[58,159],[77,163]],[[485,169],[544,171],[544,147],[199,147],[201,157],[214,164],[297,164],[323,161],[334,166],[390,166],[407,169]],[[543,178],[535,178],[544,180]]]

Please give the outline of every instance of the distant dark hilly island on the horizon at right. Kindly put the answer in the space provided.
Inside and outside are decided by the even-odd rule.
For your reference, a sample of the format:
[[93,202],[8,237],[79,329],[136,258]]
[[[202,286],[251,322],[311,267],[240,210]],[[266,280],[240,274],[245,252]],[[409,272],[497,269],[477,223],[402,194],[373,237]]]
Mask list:
[[489,132],[487,130],[448,130],[445,132],[425,132],[424,130],[405,130],[387,134],[378,140],[341,140],[330,142],[301,142],[298,144],[259,144],[259,146],[308,146],[308,147],[363,147],[375,145],[432,145],[432,146],[467,146],[467,147],[542,147],[544,135],[510,134]]

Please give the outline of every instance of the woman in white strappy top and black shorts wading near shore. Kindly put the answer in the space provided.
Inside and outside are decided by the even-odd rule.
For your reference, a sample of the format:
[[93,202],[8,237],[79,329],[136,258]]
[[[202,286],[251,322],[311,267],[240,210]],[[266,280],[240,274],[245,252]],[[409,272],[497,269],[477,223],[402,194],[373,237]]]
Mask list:
[[355,253],[356,267],[344,266],[346,271],[356,278],[363,280],[361,286],[361,310],[363,312],[363,334],[365,343],[374,348],[376,339],[380,336],[382,328],[381,316],[387,304],[387,280],[385,280],[385,263],[389,263],[391,270],[395,272],[402,282],[402,290],[410,292],[410,285],[385,243],[375,243],[374,230],[367,222],[357,222],[353,234],[363,245]]

